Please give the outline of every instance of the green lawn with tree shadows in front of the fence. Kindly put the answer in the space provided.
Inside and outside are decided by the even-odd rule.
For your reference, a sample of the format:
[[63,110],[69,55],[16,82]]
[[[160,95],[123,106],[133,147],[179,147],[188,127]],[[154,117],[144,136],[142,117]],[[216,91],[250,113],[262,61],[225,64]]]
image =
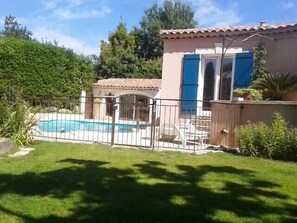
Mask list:
[[37,142],[0,159],[0,222],[297,222],[296,163]]

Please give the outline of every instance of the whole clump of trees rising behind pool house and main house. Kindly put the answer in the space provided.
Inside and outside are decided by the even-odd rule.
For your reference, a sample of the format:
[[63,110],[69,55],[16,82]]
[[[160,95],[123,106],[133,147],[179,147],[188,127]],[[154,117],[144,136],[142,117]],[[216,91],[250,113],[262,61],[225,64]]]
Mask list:
[[160,78],[162,67],[161,29],[184,29],[196,26],[194,11],[180,1],[165,0],[144,12],[140,28],[128,32],[120,23],[101,42],[101,54],[95,64],[99,78]]

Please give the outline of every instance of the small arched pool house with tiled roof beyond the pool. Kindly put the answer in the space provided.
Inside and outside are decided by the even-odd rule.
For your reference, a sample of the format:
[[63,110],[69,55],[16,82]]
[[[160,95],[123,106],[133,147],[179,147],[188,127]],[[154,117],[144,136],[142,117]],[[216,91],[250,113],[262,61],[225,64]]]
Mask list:
[[[127,120],[149,122],[152,99],[160,94],[160,79],[99,80],[93,84],[93,118],[108,120],[112,115],[112,97],[116,98],[116,121]],[[110,97],[110,98],[109,98]],[[136,107],[137,104],[137,107]]]

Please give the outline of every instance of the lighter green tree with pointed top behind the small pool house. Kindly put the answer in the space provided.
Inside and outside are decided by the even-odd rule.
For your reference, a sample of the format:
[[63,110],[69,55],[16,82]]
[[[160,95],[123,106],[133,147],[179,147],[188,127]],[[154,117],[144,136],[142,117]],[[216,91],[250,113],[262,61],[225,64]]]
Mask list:
[[135,54],[135,37],[127,32],[125,24],[119,23],[108,37],[101,41],[101,53],[97,73],[103,78],[133,78],[139,75],[139,60]]

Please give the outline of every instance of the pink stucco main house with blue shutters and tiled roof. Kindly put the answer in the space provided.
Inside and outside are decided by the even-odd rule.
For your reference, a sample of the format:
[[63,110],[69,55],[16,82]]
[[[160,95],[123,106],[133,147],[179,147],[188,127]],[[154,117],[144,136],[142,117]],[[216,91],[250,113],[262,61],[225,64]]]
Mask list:
[[161,98],[182,100],[179,116],[195,115],[209,100],[231,100],[235,88],[249,86],[257,43],[267,50],[271,72],[297,74],[297,24],[162,30],[160,36]]

